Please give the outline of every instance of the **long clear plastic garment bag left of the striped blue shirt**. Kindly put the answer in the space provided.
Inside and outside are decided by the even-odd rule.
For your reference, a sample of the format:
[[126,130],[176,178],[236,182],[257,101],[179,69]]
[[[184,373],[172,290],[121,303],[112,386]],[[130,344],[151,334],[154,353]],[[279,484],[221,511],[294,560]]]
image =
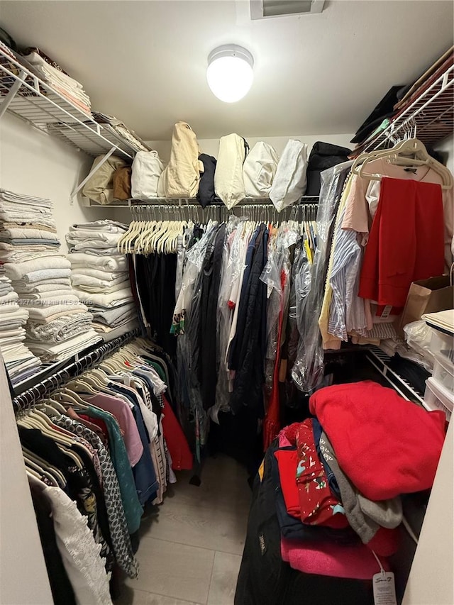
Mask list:
[[343,184],[353,162],[345,162],[321,173],[317,232],[319,238],[310,267],[304,265],[297,287],[297,321],[299,345],[292,368],[292,379],[303,392],[313,392],[323,380],[323,348],[319,316],[323,303],[334,219],[341,199]]

